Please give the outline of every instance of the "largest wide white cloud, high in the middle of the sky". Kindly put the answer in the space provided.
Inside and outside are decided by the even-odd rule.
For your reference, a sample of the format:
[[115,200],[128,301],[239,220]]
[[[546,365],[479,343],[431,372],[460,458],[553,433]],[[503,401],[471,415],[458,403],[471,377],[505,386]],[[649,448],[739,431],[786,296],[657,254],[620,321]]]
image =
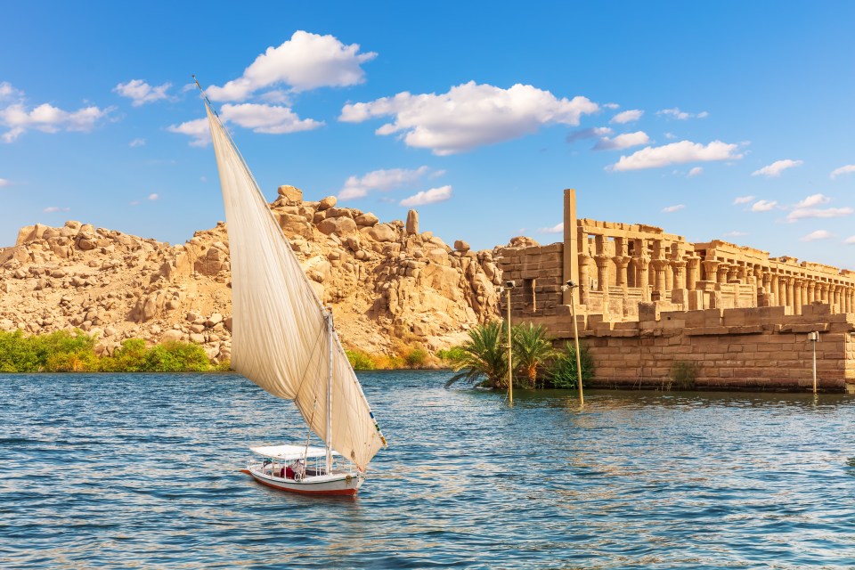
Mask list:
[[502,89],[470,81],[445,94],[404,92],[373,102],[347,104],[339,120],[360,123],[372,117],[393,116],[394,122],[380,126],[377,134],[400,133],[408,146],[443,156],[516,139],[545,125],[577,126],[582,115],[597,110],[597,103],[582,96],[557,99],[532,85]]

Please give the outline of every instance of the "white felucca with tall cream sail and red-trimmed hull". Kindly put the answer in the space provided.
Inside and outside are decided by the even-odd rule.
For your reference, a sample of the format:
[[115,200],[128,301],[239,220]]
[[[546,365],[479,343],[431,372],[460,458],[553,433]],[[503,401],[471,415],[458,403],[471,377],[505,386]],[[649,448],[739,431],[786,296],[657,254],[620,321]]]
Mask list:
[[[330,308],[315,295],[207,97],[205,109],[232,256],[232,368],[293,400],[309,430],[305,442],[251,447],[257,457],[244,471],[284,491],[355,494],[386,439],[338,340]],[[323,447],[309,446],[312,432]]]

